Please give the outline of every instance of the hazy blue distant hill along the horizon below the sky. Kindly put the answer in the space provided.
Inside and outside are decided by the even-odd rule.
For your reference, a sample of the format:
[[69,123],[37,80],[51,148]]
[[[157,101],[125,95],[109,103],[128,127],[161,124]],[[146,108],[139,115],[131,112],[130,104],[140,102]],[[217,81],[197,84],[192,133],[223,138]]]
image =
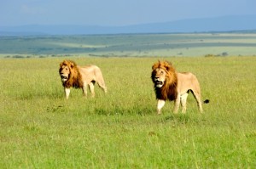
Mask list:
[[256,15],[177,20],[143,25],[20,25],[0,26],[0,36],[79,35],[121,33],[188,33],[214,31],[255,31]]

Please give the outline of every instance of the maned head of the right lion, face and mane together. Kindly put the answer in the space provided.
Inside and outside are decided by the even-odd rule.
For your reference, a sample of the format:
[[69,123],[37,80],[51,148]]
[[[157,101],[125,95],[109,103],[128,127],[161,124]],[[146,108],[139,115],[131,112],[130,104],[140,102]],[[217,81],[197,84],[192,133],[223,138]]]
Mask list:
[[151,79],[157,99],[175,99],[177,96],[177,73],[171,63],[158,61],[152,66]]

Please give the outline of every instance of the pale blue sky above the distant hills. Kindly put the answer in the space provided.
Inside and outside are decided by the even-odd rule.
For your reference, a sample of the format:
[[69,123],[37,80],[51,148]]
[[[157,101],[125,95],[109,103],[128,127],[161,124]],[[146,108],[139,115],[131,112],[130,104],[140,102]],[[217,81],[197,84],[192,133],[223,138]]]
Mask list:
[[256,14],[256,0],[0,0],[5,25],[137,25]]

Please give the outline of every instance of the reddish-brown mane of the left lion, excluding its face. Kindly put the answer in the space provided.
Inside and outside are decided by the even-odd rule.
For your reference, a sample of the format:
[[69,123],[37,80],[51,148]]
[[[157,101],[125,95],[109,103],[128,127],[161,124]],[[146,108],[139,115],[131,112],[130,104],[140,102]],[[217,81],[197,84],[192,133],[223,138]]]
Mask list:
[[66,82],[62,82],[63,87],[75,87],[75,88],[79,88],[79,87],[83,87],[83,81],[82,81],[82,76],[81,73],[79,72],[79,68],[76,65],[76,63],[72,60],[64,60],[63,62],[61,62],[60,64],[60,70],[59,72],[61,72],[62,70],[62,65],[67,65],[68,69],[69,69],[69,76],[67,78]]

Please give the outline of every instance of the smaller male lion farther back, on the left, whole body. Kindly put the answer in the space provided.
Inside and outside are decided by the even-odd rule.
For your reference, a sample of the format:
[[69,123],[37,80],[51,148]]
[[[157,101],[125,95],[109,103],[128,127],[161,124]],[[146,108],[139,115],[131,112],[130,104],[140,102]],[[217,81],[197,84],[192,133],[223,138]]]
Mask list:
[[95,96],[94,84],[97,82],[99,87],[102,87],[107,93],[102,71],[96,65],[79,66],[72,60],[64,60],[60,64],[59,73],[61,82],[64,87],[66,99],[68,99],[70,88],[82,88],[84,96],[87,96],[87,85],[89,85],[92,97]]

